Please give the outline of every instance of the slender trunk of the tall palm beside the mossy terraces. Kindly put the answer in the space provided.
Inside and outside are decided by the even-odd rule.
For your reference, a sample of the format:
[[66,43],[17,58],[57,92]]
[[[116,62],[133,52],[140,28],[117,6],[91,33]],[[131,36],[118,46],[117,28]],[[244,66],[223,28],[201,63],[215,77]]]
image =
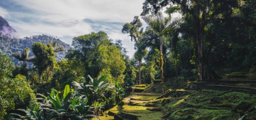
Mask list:
[[162,55],[162,37],[160,38],[160,79],[162,85],[162,94],[164,94],[164,80],[163,80],[163,55]]

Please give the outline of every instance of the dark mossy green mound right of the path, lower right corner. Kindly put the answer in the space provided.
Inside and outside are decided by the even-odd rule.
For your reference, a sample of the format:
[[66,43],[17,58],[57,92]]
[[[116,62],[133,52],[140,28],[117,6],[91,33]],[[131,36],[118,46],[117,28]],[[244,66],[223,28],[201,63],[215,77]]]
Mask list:
[[171,120],[237,120],[256,103],[256,95],[214,90],[170,99],[162,100],[162,109]]

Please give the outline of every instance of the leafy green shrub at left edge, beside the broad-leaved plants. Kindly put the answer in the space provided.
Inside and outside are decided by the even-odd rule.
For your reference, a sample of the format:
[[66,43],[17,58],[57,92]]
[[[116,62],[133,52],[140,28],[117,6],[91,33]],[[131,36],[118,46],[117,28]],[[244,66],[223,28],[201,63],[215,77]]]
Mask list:
[[0,83],[2,86],[0,88],[1,117],[10,110],[26,108],[36,102],[34,92],[27,83],[25,76],[18,74],[14,79],[1,79]]

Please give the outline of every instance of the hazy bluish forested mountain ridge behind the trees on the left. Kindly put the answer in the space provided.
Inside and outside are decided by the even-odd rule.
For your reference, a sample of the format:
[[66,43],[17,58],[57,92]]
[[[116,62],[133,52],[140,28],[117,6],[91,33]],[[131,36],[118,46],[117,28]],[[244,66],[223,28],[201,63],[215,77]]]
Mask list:
[[[24,48],[32,48],[32,45],[36,42],[42,44],[52,43],[57,41],[57,46],[64,47],[64,51],[56,52],[56,60],[62,60],[65,57],[65,52],[70,49],[70,45],[64,43],[60,39],[57,39],[49,35],[34,35],[31,37],[15,38],[12,35],[16,33],[16,30],[12,28],[9,23],[0,16],[0,51],[7,54],[15,65],[21,65],[22,62],[12,56],[14,52],[22,52]],[[30,50],[31,51],[31,50]],[[33,56],[32,51],[30,56]],[[32,63],[29,62],[28,67],[32,68]]]

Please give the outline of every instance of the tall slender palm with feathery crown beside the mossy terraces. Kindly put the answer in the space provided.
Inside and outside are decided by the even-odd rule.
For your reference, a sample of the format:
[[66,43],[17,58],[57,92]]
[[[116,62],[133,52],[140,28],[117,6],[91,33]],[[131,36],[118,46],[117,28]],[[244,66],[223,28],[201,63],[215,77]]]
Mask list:
[[160,37],[160,79],[162,84],[162,94],[164,94],[162,36],[164,30],[172,25],[171,16],[168,15],[167,17],[164,17],[161,12],[158,12],[155,15],[144,16],[143,20],[150,26],[150,29],[156,32]]

